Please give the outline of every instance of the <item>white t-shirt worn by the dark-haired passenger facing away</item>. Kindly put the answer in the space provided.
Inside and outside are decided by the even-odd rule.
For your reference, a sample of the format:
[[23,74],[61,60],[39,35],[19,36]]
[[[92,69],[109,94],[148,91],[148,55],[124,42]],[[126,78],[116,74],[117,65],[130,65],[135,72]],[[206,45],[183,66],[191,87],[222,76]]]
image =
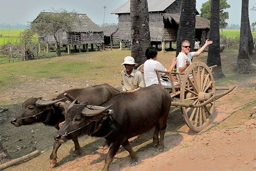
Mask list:
[[144,80],[145,80],[146,87],[152,84],[158,84],[156,71],[154,71],[154,69],[167,71],[167,69],[165,69],[165,67],[163,67],[163,65],[158,61],[154,61],[154,60],[145,61],[143,70],[144,70]]

